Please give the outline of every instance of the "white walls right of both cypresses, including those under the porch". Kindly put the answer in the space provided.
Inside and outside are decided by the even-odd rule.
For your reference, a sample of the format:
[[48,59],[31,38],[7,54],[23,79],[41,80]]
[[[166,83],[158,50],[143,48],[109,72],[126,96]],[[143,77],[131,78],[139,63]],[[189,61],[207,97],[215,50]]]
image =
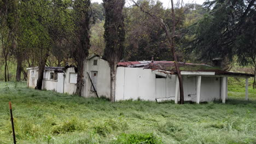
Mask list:
[[[154,101],[160,97],[174,100],[176,75],[167,76],[166,79],[158,79],[155,78],[155,74],[159,73],[150,69],[118,67],[116,100],[136,100],[139,98]],[[183,76],[185,101],[196,101],[196,86],[196,76]],[[202,76],[200,101],[212,101],[219,98],[220,78]]]

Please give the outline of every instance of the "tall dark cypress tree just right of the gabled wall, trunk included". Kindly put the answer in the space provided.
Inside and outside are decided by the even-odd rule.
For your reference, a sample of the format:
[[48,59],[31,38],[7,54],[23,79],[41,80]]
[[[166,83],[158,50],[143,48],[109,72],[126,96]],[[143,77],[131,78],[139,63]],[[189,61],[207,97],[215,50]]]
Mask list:
[[117,64],[123,56],[125,29],[123,7],[125,0],[103,0],[105,9],[104,39],[106,47],[103,58],[110,67],[110,100],[115,101]]

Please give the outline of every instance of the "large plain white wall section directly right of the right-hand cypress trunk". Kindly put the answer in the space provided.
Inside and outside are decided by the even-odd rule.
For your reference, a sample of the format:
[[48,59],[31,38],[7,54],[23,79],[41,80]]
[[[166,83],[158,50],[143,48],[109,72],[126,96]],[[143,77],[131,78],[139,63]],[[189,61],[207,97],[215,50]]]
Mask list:
[[155,100],[155,74],[150,69],[117,68],[115,100]]

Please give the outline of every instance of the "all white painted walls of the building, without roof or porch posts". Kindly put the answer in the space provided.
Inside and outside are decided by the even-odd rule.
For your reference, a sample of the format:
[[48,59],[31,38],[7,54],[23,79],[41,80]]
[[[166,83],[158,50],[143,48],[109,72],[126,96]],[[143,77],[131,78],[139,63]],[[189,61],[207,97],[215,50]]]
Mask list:
[[[97,60],[97,65],[94,65],[94,60]],[[34,71],[33,77],[32,71]],[[98,57],[91,58],[84,62],[84,87],[82,96],[96,97],[95,92],[91,91],[91,81],[87,74],[88,72],[91,76],[92,71],[97,71],[96,89],[98,96],[110,98],[110,68],[107,61]],[[57,88],[61,89],[61,86],[57,85],[57,80],[49,80],[51,71],[45,72],[48,72],[49,76],[48,80],[43,80],[43,89],[51,91],[56,91]],[[28,70],[28,87],[36,87],[37,73],[37,68]],[[65,73],[58,74],[58,80],[60,76],[63,76],[64,78],[64,80],[61,79],[64,81],[63,93],[75,93],[76,80],[74,79],[76,79],[76,77],[74,74],[74,68],[68,68]],[[165,76],[166,79],[158,79],[156,78],[156,74]],[[143,99],[155,101],[156,98],[168,98],[169,100],[174,100],[176,79],[176,75],[165,74],[158,70],[152,71],[151,69],[143,68],[118,67],[115,100]],[[202,76],[200,101],[220,99],[220,80],[220,77]],[[196,76],[183,75],[183,86],[184,100],[196,101]]]

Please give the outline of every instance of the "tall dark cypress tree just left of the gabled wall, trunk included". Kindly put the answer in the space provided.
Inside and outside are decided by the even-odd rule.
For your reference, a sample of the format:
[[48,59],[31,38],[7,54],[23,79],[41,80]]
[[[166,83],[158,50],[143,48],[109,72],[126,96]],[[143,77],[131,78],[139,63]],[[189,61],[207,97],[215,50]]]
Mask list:
[[77,94],[82,95],[84,60],[89,55],[90,49],[90,0],[74,1],[74,48],[72,56],[77,62]]

